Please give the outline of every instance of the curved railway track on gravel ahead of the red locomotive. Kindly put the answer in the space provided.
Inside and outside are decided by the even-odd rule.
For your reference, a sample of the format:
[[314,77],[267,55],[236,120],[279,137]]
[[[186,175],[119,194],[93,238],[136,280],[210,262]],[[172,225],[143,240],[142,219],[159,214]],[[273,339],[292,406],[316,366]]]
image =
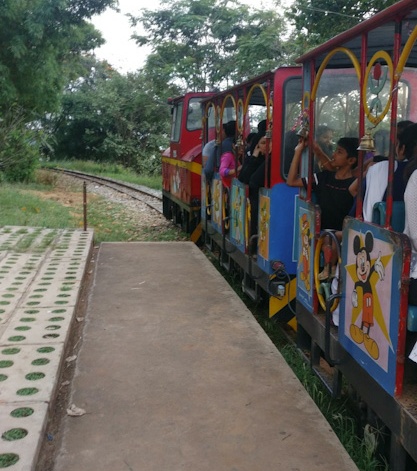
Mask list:
[[162,192],[159,190],[153,190],[142,185],[125,183],[112,178],[91,175],[89,173],[79,172],[76,170],[60,168],[53,168],[52,170],[54,172],[79,178],[90,183],[102,185],[119,193],[128,195],[132,199],[141,201],[155,211],[158,211],[158,213],[162,214]]

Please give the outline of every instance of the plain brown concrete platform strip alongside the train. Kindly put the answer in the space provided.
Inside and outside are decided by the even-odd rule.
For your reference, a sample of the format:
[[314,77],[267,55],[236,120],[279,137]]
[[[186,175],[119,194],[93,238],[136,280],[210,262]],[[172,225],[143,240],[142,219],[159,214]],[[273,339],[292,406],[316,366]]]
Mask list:
[[188,242],[101,245],[71,402],[54,471],[357,469]]

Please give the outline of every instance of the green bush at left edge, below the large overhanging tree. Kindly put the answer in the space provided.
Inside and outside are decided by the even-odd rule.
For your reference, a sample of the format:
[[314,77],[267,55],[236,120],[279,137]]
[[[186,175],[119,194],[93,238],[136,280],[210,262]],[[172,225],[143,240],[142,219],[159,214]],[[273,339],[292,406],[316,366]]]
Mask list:
[[0,120],[0,179],[30,181],[39,162],[41,133],[25,123],[24,112],[12,107]]

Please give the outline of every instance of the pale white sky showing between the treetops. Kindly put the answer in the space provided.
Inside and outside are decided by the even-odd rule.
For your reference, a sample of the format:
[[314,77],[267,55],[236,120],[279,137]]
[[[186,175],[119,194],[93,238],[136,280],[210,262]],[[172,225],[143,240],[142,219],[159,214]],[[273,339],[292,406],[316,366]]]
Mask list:
[[[243,0],[249,5],[260,8],[267,5],[268,0]],[[282,4],[288,4],[291,0],[282,0]],[[101,15],[93,18],[94,26],[103,34],[106,44],[95,50],[98,59],[106,59],[120,73],[135,72],[145,63],[150,49],[146,46],[139,47],[130,39],[133,30],[130,27],[127,13],[139,16],[141,9],[154,10],[158,7],[158,0],[119,0],[120,13],[108,9]],[[139,28],[139,27],[138,27]],[[141,33],[137,29],[138,33]],[[143,33],[143,31],[142,31]]]

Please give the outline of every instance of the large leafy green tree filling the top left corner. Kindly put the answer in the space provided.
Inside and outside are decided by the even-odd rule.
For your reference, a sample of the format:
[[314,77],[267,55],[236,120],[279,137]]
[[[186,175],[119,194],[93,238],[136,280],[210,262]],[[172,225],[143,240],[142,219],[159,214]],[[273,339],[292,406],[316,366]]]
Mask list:
[[79,58],[103,43],[89,19],[115,0],[0,2],[0,110],[53,110]]

